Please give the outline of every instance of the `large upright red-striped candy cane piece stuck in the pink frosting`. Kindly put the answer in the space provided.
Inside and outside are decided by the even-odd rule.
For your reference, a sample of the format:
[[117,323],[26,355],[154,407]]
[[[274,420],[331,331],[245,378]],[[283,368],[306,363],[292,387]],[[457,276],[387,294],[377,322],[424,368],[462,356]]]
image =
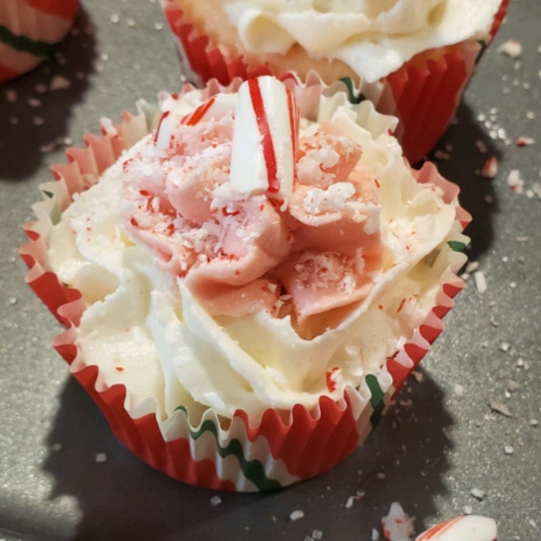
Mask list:
[[238,91],[231,152],[233,188],[286,204],[293,193],[298,107],[278,79],[253,78]]

